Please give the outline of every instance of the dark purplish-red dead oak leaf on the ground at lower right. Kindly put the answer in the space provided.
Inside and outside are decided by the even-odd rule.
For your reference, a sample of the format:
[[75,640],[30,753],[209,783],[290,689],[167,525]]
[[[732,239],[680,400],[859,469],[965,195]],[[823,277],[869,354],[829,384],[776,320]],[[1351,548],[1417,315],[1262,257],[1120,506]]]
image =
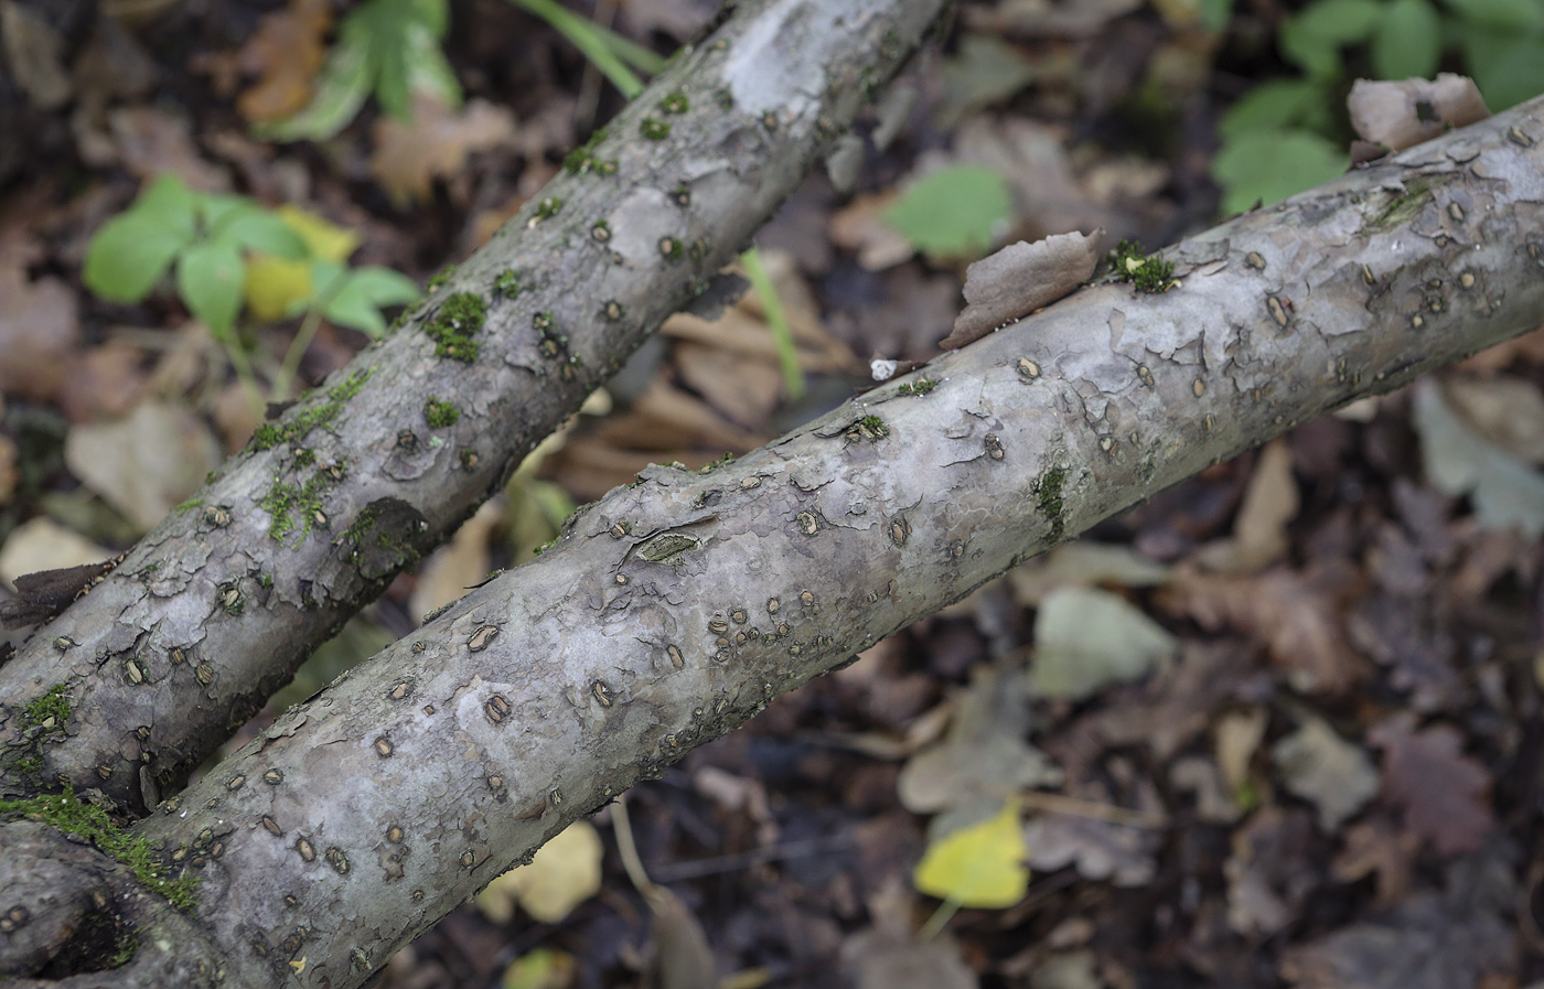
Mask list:
[[1403,810],[1405,827],[1439,855],[1473,852],[1495,827],[1490,773],[1464,754],[1464,738],[1451,725],[1416,730],[1413,714],[1399,714],[1368,731],[1383,750],[1383,799]]

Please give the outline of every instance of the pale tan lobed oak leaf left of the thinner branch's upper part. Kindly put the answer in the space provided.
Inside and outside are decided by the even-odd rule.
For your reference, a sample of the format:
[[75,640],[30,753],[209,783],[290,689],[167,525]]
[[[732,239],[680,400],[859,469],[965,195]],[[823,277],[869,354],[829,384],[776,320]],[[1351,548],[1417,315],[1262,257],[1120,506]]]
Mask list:
[[438,100],[417,94],[412,119],[381,117],[375,123],[375,154],[371,174],[397,205],[428,199],[434,179],[462,170],[474,151],[514,142],[514,114],[488,100],[471,100],[452,111]]

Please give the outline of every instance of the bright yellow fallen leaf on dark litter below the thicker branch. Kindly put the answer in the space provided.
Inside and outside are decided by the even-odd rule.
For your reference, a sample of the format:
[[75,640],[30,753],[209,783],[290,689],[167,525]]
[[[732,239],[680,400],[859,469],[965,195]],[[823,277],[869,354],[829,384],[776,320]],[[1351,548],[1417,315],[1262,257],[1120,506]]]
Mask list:
[[1010,799],[1001,813],[928,846],[913,881],[923,893],[962,907],[1011,907],[1030,887],[1027,856],[1019,804]]

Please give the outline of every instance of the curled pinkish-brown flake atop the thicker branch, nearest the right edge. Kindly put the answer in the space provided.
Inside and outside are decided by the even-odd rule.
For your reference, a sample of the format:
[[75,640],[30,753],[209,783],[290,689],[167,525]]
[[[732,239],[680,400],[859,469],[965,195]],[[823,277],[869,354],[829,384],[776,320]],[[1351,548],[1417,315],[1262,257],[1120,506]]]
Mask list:
[[1346,108],[1351,111],[1351,127],[1363,140],[1394,151],[1490,116],[1475,80],[1453,73],[1437,74],[1436,82],[1357,79],[1346,97]]

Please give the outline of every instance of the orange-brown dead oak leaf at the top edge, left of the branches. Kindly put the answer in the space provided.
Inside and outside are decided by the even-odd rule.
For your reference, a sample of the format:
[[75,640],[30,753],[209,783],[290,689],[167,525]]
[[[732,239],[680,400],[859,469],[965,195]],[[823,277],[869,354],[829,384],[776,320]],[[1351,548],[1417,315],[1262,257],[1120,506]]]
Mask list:
[[236,100],[242,117],[253,123],[283,120],[310,102],[317,73],[327,60],[324,39],[330,26],[327,0],[290,0],[283,11],[262,17],[241,46],[242,73],[258,79]]

